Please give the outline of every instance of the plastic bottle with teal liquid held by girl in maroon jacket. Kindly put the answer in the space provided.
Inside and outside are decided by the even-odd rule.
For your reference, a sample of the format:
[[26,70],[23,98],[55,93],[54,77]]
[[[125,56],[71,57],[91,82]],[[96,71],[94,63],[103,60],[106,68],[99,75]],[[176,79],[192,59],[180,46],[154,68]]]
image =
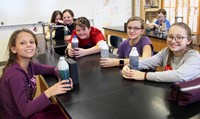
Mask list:
[[[65,61],[65,57],[60,57],[58,64],[58,73],[61,80],[69,80],[69,64]],[[70,84],[70,82],[68,82]]]

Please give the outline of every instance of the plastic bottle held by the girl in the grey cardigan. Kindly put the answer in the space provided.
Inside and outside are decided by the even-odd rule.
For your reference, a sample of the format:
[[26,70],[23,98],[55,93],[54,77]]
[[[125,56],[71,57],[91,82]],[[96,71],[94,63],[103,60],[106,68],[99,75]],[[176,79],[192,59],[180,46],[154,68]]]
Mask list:
[[133,47],[129,54],[129,64],[131,69],[138,69],[139,54],[136,47]]

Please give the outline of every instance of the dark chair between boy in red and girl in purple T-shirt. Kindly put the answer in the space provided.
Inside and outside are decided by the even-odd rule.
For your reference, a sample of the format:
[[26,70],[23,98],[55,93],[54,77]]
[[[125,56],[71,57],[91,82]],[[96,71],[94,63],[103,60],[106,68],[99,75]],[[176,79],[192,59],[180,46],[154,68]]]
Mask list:
[[110,44],[111,44],[111,46],[109,46],[110,53],[113,53],[114,48],[118,48],[121,42],[122,38],[118,36],[110,36]]

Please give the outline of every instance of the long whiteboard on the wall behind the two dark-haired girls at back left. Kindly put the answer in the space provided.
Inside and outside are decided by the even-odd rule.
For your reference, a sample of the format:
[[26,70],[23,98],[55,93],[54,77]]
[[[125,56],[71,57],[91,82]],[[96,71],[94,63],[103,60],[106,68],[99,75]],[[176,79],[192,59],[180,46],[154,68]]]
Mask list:
[[49,22],[54,10],[62,12],[65,9],[71,9],[75,18],[85,16],[93,19],[97,4],[98,0],[1,0],[0,23],[17,25]]

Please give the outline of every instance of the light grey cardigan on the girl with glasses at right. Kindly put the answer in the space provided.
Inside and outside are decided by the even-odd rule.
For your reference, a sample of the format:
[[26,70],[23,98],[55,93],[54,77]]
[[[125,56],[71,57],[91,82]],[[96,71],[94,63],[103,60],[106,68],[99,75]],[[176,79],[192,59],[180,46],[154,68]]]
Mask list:
[[[168,58],[168,48],[164,48],[156,55],[139,62],[139,69],[155,69],[165,67]],[[200,55],[196,50],[189,50],[183,57],[173,57],[173,70],[148,72],[147,80],[157,82],[184,82],[200,77]]]

